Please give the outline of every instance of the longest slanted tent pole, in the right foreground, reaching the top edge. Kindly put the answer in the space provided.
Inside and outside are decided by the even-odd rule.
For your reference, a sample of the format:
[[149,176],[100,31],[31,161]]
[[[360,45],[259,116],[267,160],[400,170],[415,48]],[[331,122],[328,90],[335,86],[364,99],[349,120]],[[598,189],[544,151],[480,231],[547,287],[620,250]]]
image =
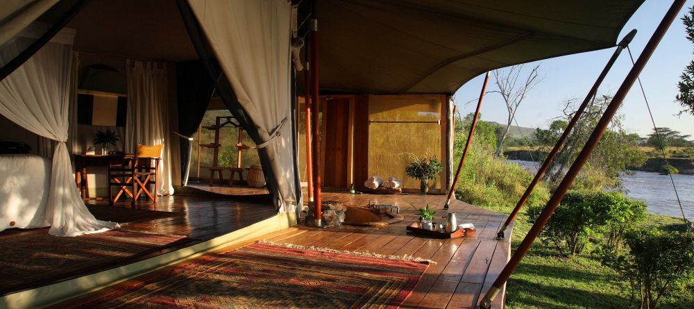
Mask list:
[[498,278],[496,278],[496,281],[494,281],[493,285],[489,288],[486,294],[484,294],[484,298],[482,298],[482,301],[480,301],[480,308],[491,308],[491,303],[496,298],[496,295],[499,293],[502,286],[509,280],[511,274],[513,274],[513,272],[516,270],[516,267],[518,267],[518,264],[520,264],[523,256],[525,256],[527,250],[530,249],[532,242],[534,242],[535,238],[540,235],[540,232],[545,227],[545,224],[547,224],[550,217],[552,217],[552,212],[554,212],[555,209],[557,209],[557,206],[559,206],[559,202],[564,197],[564,194],[566,194],[568,187],[571,185],[571,183],[573,183],[573,180],[578,175],[578,172],[580,172],[581,168],[591,156],[591,153],[593,153],[595,147],[598,145],[598,142],[600,142],[602,134],[607,129],[610,122],[612,122],[612,118],[616,114],[617,109],[624,100],[624,97],[626,97],[627,93],[629,92],[629,89],[632,87],[632,85],[634,85],[634,81],[636,81],[636,78],[638,78],[638,74],[641,74],[641,70],[643,70],[643,67],[645,67],[645,64],[648,62],[650,56],[652,56],[653,51],[655,51],[660,40],[663,38],[663,35],[665,35],[665,33],[668,31],[670,24],[672,24],[672,21],[677,18],[677,14],[682,6],[684,6],[684,2],[685,0],[675,0],[672,3],[672,6],[670,6],[670,9],[663,17],[663,20],[658,25],[658,28],[656,28],[650,40],[648,40],[648,44],[646,44],[644,47],[643,52],[641,52],[641,56],[639,56],[638,60],[636,60],[636,64],[634,64],[632,69],[629,71],[629,74],[627,74],[625,77],[624,82],[622,85],[620,85],[619,90],[617,90],[617,92],[614,94],[612,101],[610,101],[607,109],[605,109],[604,114],[602,117],[600,117],[600,121],[595,126],[593,133],[591,133],[591,137],[589,137],[585,146],[578,154],[575,162],[573,162],[573,165],[571,165],[568,172],[566,172],[564,179],[562,179],[561,183],[559,183],[559,187],[557,187],[555,194],[552,194],[552,197],[550,197],[550,200],[547,202],[547,206],[545,206],[535,223],[532,225],[532,228],[530,228],[530,231],[528,231],[527,235],[525,235],[523,242],[521,242],[521,244],[518,246],[518,249],[516,249],[514,255],[511,256],[511,260],[509,260],[504,269],[502,269]]

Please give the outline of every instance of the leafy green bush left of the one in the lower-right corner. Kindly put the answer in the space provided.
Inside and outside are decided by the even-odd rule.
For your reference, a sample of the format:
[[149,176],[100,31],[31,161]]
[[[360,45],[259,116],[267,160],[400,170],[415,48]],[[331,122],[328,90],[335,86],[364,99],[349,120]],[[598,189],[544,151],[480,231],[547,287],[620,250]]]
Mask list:
[[[530,222],[539,217],[543,208],[528,208]],[[641,219],[644,212],[644,203],[627,199],[618,192],[569,191],[540,237],[554,244],[561,256],[568,256],[581,253],[589,240],[597,240],[602,231],[609,230],[609,247],[616,250],[623,232]]]

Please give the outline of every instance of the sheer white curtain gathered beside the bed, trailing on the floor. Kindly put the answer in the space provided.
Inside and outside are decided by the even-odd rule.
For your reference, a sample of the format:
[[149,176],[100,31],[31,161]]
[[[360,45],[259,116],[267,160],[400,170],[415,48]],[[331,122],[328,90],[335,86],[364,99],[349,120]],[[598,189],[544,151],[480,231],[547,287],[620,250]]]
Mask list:
[[65,146],[73,72],[74,31],[69,30],[61,31],[56,40],[44,45],[0,82],[0,114],[28,131],[58,142],[46,205],[46,226],[51,226],[49,233],[56,236],[97,233],[118,227],[116,223],[94,218],[78,194],[72,176]]

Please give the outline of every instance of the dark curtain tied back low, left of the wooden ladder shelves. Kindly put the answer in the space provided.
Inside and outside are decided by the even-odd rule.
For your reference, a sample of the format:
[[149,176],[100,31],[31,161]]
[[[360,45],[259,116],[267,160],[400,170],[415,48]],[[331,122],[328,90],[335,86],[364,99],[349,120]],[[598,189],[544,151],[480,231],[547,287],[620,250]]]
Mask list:
[[[212,98],[214,83],[210,80],[200,61],[178,62],[176,64],[176,87],[178,97],[178,133],[191,137],[208,109]],[[181,183],[188,183],[192,142],[180,140]]]

